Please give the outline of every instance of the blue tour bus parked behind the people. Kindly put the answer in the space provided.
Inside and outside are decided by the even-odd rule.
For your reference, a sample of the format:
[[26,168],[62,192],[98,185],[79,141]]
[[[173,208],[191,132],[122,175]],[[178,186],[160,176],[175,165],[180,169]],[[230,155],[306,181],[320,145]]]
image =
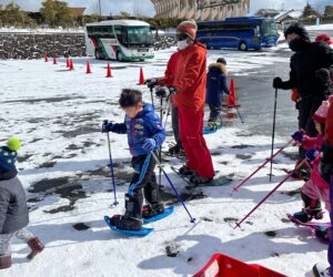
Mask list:
[[198,22],[196,39],[208,49],[260,50],[276,45],[278,38],[276,24],[270,18],[241,17]]

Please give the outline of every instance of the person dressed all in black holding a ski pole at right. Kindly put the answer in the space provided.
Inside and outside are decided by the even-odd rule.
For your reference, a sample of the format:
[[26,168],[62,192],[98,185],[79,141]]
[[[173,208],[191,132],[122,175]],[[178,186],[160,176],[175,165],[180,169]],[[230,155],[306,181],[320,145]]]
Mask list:
[[[315,136],[316,131],[312,115],[326,99],[327,82],[320,76],[321,69],[327,69],[333,64],[333,52],[325,42],[311,42],[309,33],[300,23],[291,24],[284,32],[289,48],[295,52],[290,62],[290,80],[283,82],[280,76],[273,80],[273,88],[291,90],[296,88],[300,100],[299,127],[306,131],[310,136]],[[305,153],[299,148],[299,161]]]

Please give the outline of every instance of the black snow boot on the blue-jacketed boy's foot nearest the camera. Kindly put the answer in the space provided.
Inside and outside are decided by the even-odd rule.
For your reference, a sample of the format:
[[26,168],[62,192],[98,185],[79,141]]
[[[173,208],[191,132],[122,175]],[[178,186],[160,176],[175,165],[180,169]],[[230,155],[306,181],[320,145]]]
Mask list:
[[110,224],[119,229],[142,229],[142,194],[135,192],[133,196],[125,194],[125,214],[113,215]]

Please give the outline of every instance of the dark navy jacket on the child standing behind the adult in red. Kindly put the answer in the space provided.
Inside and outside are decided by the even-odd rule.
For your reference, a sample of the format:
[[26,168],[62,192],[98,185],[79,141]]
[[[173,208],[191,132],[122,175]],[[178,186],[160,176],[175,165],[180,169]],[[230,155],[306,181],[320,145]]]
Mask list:
[[206,74],[205,103],[213,106],[222,106],[223,92],[229,94],[226,85],[226,70],[223,63],[212,63]]

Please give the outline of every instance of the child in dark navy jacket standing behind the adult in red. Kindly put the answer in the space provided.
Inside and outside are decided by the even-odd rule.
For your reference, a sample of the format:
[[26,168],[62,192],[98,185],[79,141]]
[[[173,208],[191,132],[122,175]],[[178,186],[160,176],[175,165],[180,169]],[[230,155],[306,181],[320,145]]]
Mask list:
[[206,74],[205,103],[209,104],[211,110],[208,123],[208,129],[211,131],[218,129],[216,121],[222,110],[223,92],[230,93],[226,85],[226,61],[219,58],[215,63],[209,65]]

